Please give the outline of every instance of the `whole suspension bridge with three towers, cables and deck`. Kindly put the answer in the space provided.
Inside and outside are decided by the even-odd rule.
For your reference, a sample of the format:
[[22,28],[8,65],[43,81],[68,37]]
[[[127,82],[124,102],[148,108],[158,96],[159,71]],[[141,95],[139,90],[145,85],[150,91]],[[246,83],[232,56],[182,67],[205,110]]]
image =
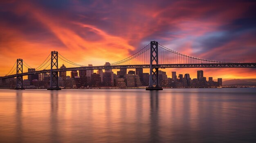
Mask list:
[[[59,64],[65,64],[67,68],[58,68]],[[35,71],[25,71],[23,67],[32,68],[23,59],[17,59],[9,73],[0,77],[0,80],[16,77],[16,88],[23,88],[23,76],[40,73],[50,73],[50,87],[48,90],[60,90],[58,86],[58,72],[72,70],[103,70],[123,68],[149,68],[150,79],[146,90],[162,90],[158,81],[159,68],[256,68],[256,63],[244,62],[220,62],[209,59],[192,57],[173,51],[158,42],[151,41],[135,54],[121,61],[104,66],[84,66],[66,59],[57,51],[52,51],[45,61]]]

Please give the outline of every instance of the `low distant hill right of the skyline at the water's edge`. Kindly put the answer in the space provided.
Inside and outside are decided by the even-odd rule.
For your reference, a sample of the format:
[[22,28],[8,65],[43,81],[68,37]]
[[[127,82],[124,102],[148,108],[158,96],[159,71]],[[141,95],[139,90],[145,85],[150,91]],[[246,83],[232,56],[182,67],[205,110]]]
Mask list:
[[256,85],[256,79],[231,79],[223,81],[222,85]]

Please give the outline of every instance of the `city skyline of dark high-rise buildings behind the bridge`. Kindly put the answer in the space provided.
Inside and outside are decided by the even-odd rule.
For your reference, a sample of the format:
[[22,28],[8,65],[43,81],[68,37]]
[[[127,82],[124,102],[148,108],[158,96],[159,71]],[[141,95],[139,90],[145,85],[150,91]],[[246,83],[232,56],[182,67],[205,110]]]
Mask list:
[[[105,66],[110,65],[106,62]],[[88,66],[92,66],[89,64]],[[66,68],[63,64],[60,68]],[[28,71],[35,71],[29,68]],[[94,72],[97,71],[97,72]],[[145,88],[149,86],[150,75],[143,68],[119,69],[117,74],[112,69],[105,70],[71,70],[70,75],[66,71],[58,73],[58,86],[67,89],[85,88]],[[169,76],[168,76],[169,75]],[[170,76],[171,75],[171,76]],[[216,88],[222,87],[222,78],[213,79],[211,75],[205,76],[203,70],[197,70],[197,78],[190,77],[190,73],[181,74],[172,71],[166,73],[158,71],[159,86],[162,88]],[[2,83],[1,87],[13,88],[15,79],[10,78]],[[23,80],[24,88],[49,88],[50,74],[29,75]]]

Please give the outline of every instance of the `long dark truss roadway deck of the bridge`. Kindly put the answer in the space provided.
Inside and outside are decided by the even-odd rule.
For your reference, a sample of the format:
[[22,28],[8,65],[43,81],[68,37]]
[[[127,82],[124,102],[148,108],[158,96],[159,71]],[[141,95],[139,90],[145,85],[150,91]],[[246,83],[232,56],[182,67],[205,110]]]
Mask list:
[[[113,66],[81,66],[75,68],[58,68],[52,69],[53,72],[71,71],[71,70],[104,70],[104,69],[121,69],[121,68],[150,68],[150,64],[144,65],[113,65]],[[256,63],[216,63],[216,64],[158,64],[153,68],[256,68]],[[0,77],[7,79],[16,76],[34,75],[39,73],[50,73],[51,70],[38,70],[34,72],[20,73],[18,75],[8,75]]]

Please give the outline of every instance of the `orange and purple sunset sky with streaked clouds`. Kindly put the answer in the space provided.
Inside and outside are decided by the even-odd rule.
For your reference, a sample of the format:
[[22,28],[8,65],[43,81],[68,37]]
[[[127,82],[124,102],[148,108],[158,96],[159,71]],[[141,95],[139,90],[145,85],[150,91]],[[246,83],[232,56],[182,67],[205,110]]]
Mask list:
[[[51,51],[78,64],[103,65],[155,40],[180,53],[226,62],[256,62],[253,0],[6,0],[0,2],[0,76],[17,58],[32,67]],[[204,70],[206,77],[256,78],[252,68]]]

